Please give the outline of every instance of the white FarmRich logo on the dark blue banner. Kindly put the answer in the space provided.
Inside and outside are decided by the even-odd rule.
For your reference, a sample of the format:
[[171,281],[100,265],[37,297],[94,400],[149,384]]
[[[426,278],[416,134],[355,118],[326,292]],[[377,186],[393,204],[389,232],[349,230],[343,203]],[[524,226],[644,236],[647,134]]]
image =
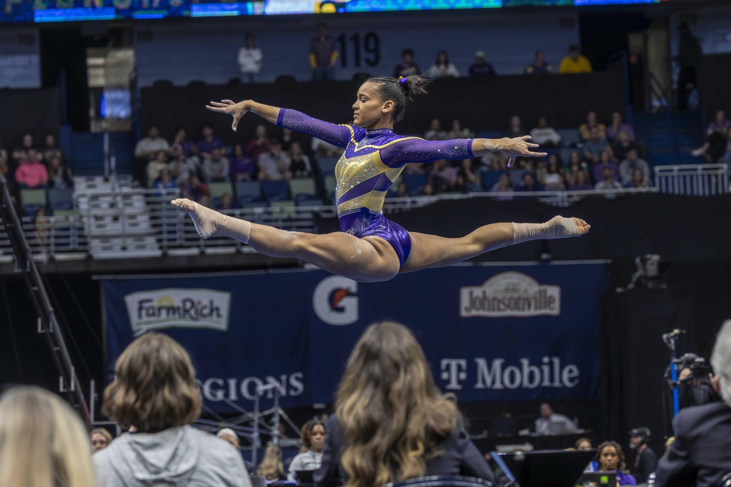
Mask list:
[[135,335],[173,327],[228,329],[230,293],[167,288],[127,294],[124,302]]

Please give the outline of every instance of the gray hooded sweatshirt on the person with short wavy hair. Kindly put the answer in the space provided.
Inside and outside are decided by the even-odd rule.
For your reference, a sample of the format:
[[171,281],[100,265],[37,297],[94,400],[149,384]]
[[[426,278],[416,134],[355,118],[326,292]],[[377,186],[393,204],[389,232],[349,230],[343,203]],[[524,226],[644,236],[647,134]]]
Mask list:
[[238,450],[187,425],[122,434],[91,459],[99,487],[251,487]]

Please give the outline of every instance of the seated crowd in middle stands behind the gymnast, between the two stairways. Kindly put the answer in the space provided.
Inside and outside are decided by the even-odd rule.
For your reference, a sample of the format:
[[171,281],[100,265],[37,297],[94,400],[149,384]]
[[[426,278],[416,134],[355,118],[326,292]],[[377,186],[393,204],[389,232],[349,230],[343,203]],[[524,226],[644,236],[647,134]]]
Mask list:
[[[548,156],[518,158],[510,168],[501,152],[463,161],[406,164],[388,197],[647,188],[651,185],[651,172],[643,158],[645,146],[637,141],[635,130],[620,112],[614,112],[606,121],[602,123],[595,112],[588,112],[586,121],[575,129],[556,129],[545,117],[530,129],[514,116],[504,131],[475,133],[462,126],[460,120],[452,120],[443,128],[442,120],[434,118],[428,130],[420,134],[423,139],[530,135],[531,142],[539,144]],[[342,151],[320,139],[263,124],[256,127],[249,141],[232,147],[224,145],[209,125],[202,127],[197,140],[179,128],[171,142],[160,136],[156,126],[151,126],[147,137],[137,142],[135,179],[148,188],[181,188],[183,197],[205,206],[213,204],[218,210],[261,206],[260,195],[244,195],[238,183],[279,182],[284,185],[284,193],[278,193],[273,198],[276,201],[290,199],[286,188],[292,180],[307,180],[317,189],[307,199],[298,199],[298,204],[332,204],[334,188],[327,185],[327,180],[332,177]],[[222,193],[212,195],[212,183],[228,184]],[[324,199],[320,197],[323,194]],[[294,194],[291,199],[295,199]]]

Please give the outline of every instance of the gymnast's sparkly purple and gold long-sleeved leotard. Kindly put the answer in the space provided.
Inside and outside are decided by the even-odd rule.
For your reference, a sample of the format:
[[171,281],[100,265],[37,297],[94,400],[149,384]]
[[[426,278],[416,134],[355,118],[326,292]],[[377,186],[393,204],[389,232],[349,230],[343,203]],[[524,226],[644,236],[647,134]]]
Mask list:
[[276,124],[345,147],[335,166],[340,229],[355,237],[381,237],[393,247],[402,266],[409,258],[411,237],[402,226],[383,215],[388,188],[406,163],[474,157],[472,139],[402,137],[391,129],[335,125],[284,108],[279,110]]

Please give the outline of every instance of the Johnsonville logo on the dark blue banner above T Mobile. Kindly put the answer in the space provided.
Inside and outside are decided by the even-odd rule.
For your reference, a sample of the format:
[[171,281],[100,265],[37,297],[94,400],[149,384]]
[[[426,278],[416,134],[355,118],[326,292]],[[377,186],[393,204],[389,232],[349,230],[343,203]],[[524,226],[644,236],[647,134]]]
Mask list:
[[561,314],[561,288],[542,285],[520,272],[502,272],[482,285],[460,289],[460,316],[539,316]]

